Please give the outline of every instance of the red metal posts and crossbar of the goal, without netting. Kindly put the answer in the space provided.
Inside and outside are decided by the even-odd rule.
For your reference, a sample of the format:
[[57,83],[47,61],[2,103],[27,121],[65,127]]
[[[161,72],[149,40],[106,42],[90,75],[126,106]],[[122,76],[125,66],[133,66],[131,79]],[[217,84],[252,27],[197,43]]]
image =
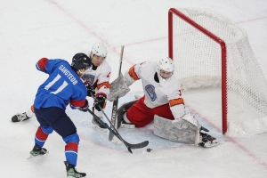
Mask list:
[[174,15],[178,16],[182,20],[186,21],[190,26],[197,28],[200,32],[205,34],[206,36],[213,39],[217,44],[220,44],[221,46],[221,57],[222,57],[222,124],[223,124],[223,134],[226,134],[227,132],[227,68],[226,68],[226,56],[227,56],[227,46],[225,42],[218,36],[215,36],[213,33],[211,33],[206,28],[203,28],[202,26],[198,25],[193,20],[190,20],[189,17],[185,16],[182,12],[179,12],[175,8],[170,8],[168,11],[168,55],[171,59],[173,59],[173,27],[174,27],[174,21],[173,17]]

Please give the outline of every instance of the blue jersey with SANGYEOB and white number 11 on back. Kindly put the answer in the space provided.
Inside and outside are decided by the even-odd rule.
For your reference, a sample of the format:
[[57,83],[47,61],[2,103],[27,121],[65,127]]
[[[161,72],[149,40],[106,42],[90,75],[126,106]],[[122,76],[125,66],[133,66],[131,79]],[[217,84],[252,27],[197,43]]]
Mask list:
[[34,106],[36,109],[59,107],[66,109],[70,103],[72,109],[85,105],[86,87],[69,62],[61,59],[37,61],[36,69],[49,74],[39,86]]

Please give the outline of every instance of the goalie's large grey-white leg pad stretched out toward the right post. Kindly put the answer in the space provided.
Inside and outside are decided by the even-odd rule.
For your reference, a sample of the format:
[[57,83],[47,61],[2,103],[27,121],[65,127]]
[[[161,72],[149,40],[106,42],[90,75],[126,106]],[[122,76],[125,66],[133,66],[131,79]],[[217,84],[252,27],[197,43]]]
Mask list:
[[198,126],[185,119],[173,122],[165,117],[154,116],[154,134],[159,137],[173,142],[195,144],[198,133]]

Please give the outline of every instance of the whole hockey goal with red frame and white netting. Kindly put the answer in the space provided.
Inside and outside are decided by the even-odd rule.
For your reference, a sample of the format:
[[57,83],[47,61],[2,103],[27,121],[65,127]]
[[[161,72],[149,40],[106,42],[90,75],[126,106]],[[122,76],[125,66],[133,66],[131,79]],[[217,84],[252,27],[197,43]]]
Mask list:
[[223,134],[267,132],[267,83],[247,32],[206,9],[171,8],[168,20],[169,57],[183,91],[221,89]]

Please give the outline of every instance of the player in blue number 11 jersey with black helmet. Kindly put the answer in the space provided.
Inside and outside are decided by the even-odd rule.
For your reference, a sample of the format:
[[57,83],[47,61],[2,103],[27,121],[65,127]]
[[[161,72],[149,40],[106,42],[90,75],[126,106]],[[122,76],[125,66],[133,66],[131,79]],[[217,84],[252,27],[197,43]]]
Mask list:
[[87,111],[89,107],[86,100],[87,89],[80,77],[91,65],[92,62],[85,53],[77,53],[71,65],[68,61],[47,58],[42,58],[36,63],[36,69],[48,74],[49,77],[39,86],[34,101],[36,119],[40,125],[30,155],[35,157],[47,153],[43,148],[44,142],[54,130],[66,142],[64,163],[67,176],[72,177],[85,177],[86,174],[78,173],[75,169],[79,136],[65,109],[69,104],[72,109]]

